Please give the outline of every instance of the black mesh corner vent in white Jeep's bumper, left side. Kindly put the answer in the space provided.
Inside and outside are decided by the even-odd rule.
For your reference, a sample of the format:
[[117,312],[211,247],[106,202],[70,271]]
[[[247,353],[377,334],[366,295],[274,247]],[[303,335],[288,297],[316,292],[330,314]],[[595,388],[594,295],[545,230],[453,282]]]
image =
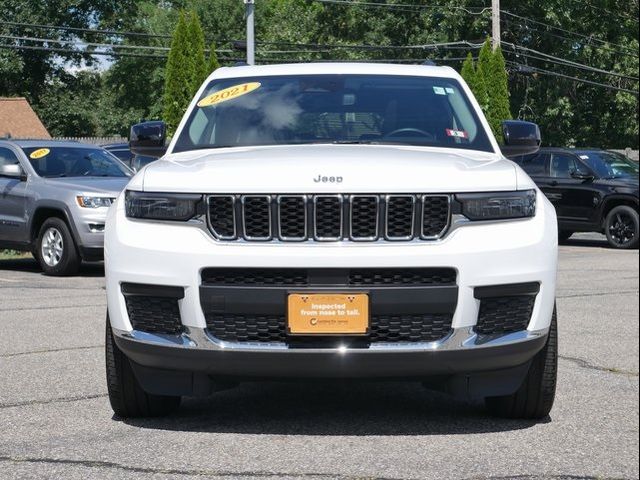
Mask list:
[[129,321],[134,330],[149,333],[180,333],[178,300],[147,295],[125,296]]

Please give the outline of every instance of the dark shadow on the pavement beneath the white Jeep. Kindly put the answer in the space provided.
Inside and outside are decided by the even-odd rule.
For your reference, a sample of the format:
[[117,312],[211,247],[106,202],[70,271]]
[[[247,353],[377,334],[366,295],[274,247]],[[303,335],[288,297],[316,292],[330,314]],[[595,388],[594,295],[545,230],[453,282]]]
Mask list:
[[336,436],[503,432],[539,423],[492,418],[479,403],[408,382],[242,384],[186,399],[169,417],[125,422],[154,430]]

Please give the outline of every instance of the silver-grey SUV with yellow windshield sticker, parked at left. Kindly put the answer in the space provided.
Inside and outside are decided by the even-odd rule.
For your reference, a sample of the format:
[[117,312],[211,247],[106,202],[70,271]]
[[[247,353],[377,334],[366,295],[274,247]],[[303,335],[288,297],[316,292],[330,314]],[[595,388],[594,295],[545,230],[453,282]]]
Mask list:
[[30,250],[49,275],[101,260],[107,210],[132,174],[97,146],[0,140],[0,248]]

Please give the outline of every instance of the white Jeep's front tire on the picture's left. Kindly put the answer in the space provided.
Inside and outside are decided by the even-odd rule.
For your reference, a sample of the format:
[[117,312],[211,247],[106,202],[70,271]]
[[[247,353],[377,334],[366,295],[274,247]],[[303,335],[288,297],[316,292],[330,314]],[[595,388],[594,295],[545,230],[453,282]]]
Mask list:
[[180,397],[152,395],[136,379],[129,359],[113,339],[109,315],[105,338],[107,390],[113,412],[120,418],[159,417],[180,406]]

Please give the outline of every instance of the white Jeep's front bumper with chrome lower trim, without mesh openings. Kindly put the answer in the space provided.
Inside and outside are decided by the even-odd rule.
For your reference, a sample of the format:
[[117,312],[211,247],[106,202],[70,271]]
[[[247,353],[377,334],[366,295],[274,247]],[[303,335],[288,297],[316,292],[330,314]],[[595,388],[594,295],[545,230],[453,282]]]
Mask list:
[[[553,207],[539,193],[534,218],[468,224],[434,242],[224,243],[197,225],[132,221],[125,217],[121,197],[109,212],[105,261],[116,342],[138,370],[162,371],[163,378],[173,374],[186,378],[185,372],[207,378],[445,376],[466,379],[463,383],[470,385],[469,375],[522,367],[514,376],[517,388],[528,362],[543,347],[552,318],[557,224]],[[437,342],[367,348],[296,349],[220,342],[210,336],[203,312],[202,271],[209,267],[453,268],[457,296],[452,332]],[[122,294],[125,283],[179,287],[184,333],[134,330]],[[479,288],[526,283],[539,285],[526,330],[498,337],[474,332],[481,304],[475,294]],[[247,302],[251,301],[249,296]],[[193,379],[184,381],[194,384]],[[513,387],[507,383],[497,382],[502,386],[492,392]],[[152,384],[149,389],[157,390]]]

